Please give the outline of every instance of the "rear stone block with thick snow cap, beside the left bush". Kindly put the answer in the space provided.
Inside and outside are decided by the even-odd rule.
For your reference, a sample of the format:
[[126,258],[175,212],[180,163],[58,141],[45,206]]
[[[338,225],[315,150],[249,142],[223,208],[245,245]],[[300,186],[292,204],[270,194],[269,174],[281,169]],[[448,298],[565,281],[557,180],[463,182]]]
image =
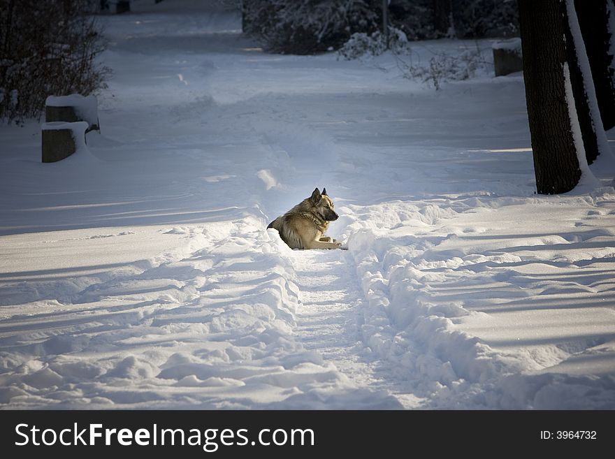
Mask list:
[[45,101],[46,122],[77,122],[85,121],[86,132],[100,131],[98,101],[95,96],[49,96]]

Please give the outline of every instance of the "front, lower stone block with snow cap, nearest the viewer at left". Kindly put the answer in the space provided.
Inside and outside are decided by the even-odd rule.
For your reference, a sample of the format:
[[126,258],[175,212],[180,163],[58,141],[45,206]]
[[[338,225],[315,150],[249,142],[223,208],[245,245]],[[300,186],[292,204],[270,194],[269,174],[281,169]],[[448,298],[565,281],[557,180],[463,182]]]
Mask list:
[[43,123],[43,163],[55,163],[85,147],[85,121]]

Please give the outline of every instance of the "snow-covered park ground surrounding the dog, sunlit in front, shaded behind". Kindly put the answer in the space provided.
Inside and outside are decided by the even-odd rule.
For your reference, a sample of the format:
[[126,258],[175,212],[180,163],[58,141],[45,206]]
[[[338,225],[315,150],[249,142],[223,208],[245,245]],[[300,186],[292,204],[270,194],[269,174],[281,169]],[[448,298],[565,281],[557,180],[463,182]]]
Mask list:
[[[536,195],[521,75],[435,92],[131,4],[86,149],[0,126],[0,407],[615,409],[614,168]],[[348,251],[266,230],[314,187]]]

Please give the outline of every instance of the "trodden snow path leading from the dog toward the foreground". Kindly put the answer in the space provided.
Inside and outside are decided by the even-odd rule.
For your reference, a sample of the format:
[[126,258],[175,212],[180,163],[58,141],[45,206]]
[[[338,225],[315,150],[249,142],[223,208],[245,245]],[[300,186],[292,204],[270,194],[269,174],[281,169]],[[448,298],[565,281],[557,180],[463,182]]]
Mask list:
[[300,289],[296,309],[296,338],[305,349],[333,363],[353,384],[386,391],[404,408],[417,408],[407,374],[396,374],[363,342],[366,299],[349,252],[294,251],[291,261]]

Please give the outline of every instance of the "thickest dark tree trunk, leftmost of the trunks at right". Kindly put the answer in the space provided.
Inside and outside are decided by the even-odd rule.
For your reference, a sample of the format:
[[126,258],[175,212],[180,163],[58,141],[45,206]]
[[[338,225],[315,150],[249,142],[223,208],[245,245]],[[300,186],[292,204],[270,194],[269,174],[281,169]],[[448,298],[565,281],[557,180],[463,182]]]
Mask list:
[[566,101],[562,3],[518,0],[523,79],[540,194],[570,191],[581,177]]

